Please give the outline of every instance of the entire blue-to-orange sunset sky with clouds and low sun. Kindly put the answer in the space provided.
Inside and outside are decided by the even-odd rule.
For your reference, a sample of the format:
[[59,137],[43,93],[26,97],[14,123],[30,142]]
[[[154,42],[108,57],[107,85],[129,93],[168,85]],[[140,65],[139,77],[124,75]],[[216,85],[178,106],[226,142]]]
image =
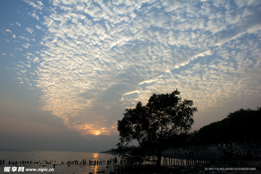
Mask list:
[[0,148],[103,151],[126,108],[193,100],[192,130],[261,106],[261,1],[0,1]]

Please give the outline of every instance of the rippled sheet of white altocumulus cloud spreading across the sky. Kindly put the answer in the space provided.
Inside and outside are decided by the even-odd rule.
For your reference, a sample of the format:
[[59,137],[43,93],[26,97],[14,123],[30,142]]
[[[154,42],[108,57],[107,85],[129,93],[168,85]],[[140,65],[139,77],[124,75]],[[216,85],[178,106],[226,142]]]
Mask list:
[[42,110],[83,135],[117,134],[124,108],[176,88],[200,116],[260,102],[258,0],[25,2],[41,26],[13,38],[29,42],[40,29],[44,48],[17,63],[34,81],[18,80],[40,89]]

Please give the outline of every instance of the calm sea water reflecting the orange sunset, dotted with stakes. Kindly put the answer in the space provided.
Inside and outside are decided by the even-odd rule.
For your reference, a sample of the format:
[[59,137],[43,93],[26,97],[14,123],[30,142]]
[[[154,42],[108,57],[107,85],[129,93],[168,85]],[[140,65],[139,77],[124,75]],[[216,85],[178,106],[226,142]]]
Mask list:
[[[64,151],[44,151],[44,150],[22,150],[22,149],[0,149],[0,160],[2,160],[2,165],[0,165],[0,173],[5,173],[5,167],[11,167],[10,172],[12,173],[99,173],[101,171],[105,171],[105,173],[109,173],[109,171],[113,171],[115,169],[116,164],[109,164],[109,168],[107,166],[107,160],[110,158],[115,158],[111,154],[106,153],[91,153],[91,152],[64,152]],[[82,160],[86,160],[86,165],[82,165]],[[3,165],[4,160],[4,165]],[[94,161],[105,161],[102,164],[93,165],[89,164],[89,160]],[[8,164],[8,162],[16,162],[17,164]],[[22,161],[29,161],[29,164],[22,164]],[[30,164],[39,162],[39,164]],[[45,161],[51,162],[51,164],[46,164]],[[64,164],[62,164],[62,161]],[[78,164],[66,164],[68,161],[78,161]],[[120,159],[118,158],[118,161]],[[21,162],[21,164],[20,164]],[[80,164],[80,162],[82,164]],[[42,164],[40,164],[42,163]],[[54,168],[55,164],[55,168]],[[118,165],[118,164],[117,164]],[[17,167],[17,171],[11,171],[12,167]],[[24,172],[18,172],[18,167],[24,167]],[[26,169],[54,169],[54,171],[43,171],[43,172],[33,172],[26,171]],[[8,173],[8,172],[7,172]]]

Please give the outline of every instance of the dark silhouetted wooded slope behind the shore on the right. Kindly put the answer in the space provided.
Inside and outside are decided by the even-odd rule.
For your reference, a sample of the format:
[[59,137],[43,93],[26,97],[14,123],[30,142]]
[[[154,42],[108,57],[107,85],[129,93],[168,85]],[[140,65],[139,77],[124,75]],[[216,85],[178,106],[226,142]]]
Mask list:
[[188,135],[187,143],[191,146],[212,145],[222,143],[261,142],[261,107],[257,110],[240,109],[229,113],[227,118],[213,122]]

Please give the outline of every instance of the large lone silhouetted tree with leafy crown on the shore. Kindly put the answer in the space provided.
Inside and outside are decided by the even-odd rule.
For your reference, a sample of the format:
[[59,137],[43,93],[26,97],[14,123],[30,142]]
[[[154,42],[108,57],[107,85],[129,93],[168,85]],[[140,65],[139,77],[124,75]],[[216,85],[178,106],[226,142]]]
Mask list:
[[[170,94],[153,94],[146,105],[139,101],[135,108],[126,109],[122,120],[118,120],[117,153],[156,155],[160,165],[162,152],[187,134],[194,123],[197,108],[192,107],[192,100],[182,101],[179,94],[177,89]],[[137,147],[130,146],[133,140],[138,141]]]

